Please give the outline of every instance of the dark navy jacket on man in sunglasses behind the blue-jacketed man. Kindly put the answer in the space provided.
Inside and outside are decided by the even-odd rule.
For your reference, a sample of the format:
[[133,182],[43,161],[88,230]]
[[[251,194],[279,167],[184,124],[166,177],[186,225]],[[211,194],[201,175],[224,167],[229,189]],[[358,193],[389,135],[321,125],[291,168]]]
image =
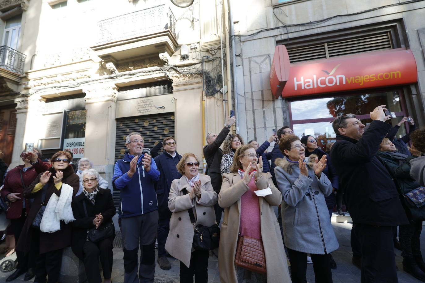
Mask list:
[[156,182],[156,194],[158,196],[158,208],[161,213],[162,210],[170,213],[168,208],[168,195],[170,194],[171,182],[174,179],[180,179],[181,174],[178,173],[176,165],[180,161],[181,155],[176,151],[176,156],[173,158],[166,151],[159,154],[154,158],[156,166],[158,167],[161,175],[159,181]]

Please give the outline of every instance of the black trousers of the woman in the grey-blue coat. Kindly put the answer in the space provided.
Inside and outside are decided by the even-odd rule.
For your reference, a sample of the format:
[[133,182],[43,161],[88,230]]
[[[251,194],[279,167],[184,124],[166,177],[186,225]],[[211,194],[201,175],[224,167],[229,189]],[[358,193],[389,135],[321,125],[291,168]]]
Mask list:
[[[307,253],[288,248],[291,262],[292,283],[307,283]],[[331,258],[329,254],[310,254],[313,261],[314,280],[316,283],[332,283]]]

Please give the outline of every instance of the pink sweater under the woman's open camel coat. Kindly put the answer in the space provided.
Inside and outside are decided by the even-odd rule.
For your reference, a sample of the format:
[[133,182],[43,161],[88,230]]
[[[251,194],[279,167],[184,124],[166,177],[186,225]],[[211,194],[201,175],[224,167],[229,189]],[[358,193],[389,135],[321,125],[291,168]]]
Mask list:
[[254,193],[254,191],[257,191],[254,177],[249,182],[248,187],[249,191],[241,197],[239,233],[241,236],[261,240],[260,203],[258,202],[258,196]]

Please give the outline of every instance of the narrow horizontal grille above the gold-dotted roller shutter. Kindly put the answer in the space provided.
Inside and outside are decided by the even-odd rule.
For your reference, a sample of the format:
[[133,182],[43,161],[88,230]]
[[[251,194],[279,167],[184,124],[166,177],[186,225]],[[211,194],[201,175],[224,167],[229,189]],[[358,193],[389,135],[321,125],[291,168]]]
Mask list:
[[140,98],[173,92],[172,81],[154,81],[147,84],[136,84],[129,87],[120,87],[117,100]]

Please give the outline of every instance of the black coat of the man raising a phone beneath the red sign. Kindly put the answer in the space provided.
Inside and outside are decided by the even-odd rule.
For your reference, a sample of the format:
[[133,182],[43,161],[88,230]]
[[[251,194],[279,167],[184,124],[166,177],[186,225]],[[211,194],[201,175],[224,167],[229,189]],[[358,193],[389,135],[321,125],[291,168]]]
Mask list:
[[391,126],[374,120],[360,140],[337,134],[331,160],[354,224],[398,226],[408,224],[396,185],[377,157]]

